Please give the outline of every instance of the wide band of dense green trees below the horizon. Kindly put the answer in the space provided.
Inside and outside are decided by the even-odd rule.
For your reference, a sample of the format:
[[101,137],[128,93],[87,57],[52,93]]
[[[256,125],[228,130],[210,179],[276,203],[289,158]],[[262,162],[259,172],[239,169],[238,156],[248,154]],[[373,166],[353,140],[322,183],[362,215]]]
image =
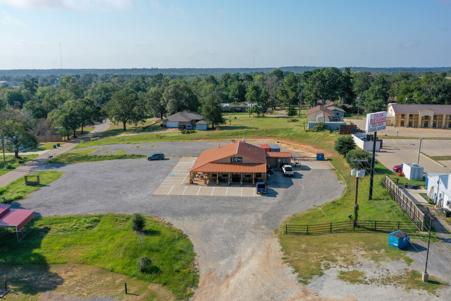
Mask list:
[[19,132],[42,135],[53,129],[69,139],[79,127],[83,131],[84,126],[105,118],[121,123],[126,130],[127,125],[150,116],[184,110],[204,114],[214,127],[224,123],[222,103],[249,107],[249,113],[257,116],[279,106],[292,116],[300,105],[315,106],[326,100],[346,104],[349,112],[357,106],[367,112],[385,111],[389,97],[397,97],[398,103],[451,104],[451,80],[446,73],[420,78],[410,72],[387,75],[323,68],[303,73],[279,69],[216,76],[84,73],[12,80],[21,83],[17,87],[0,85],[3,135],[7,136],[7,127],[16,129],[8,133],[9,143]]

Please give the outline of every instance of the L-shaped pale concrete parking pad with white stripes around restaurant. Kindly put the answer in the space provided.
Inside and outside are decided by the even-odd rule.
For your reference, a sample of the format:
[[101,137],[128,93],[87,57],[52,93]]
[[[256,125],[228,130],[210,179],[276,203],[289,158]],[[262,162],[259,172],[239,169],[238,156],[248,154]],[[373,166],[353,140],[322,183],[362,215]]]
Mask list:
[[[153,195],[155,196],[209,196],[209,197],[260,197],[255,187],[245,184],[244,187],[227,184],[208,183],[201,185],[189,183],[189,172],[197,157],[182,157],[169,175],[163,180]],[[235,187],[234,187],[235,186]]]

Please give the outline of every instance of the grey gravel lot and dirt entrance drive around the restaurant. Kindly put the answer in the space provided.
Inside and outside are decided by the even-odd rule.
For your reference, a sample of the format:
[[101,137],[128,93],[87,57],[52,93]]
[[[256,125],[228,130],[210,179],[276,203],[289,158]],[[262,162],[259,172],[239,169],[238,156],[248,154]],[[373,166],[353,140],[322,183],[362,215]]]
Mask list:
[[65,174],[13,207],[33,208],[43,216],[105,212],[158,216],[183,229],[194,244],[200,269],[194,299],[297,298],[303,287],[283,264],[274,229],[293,213],[340,197],[344,186],[334,170],[298,170],[295,178],[276,174],[277,188],[271,188],[268,197],[153,195],[178,160],[37,166],[33,171],[55,169]]

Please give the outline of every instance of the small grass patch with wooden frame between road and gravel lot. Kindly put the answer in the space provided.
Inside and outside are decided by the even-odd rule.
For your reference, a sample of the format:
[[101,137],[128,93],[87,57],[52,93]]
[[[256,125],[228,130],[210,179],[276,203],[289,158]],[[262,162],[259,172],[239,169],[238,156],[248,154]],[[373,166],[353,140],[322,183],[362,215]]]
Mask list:
[[42,186],[49,185],[53,181],[57,180],[61,175],[64,174],[62,171],[40,171],[39,173],[29,174],[29,175],[39,175],[41,184],[40,185],[25,185],[25,179],[19,178],[6,186],[0,187],[0,202],[1,203],[11,203],[14,201],[19,201],[27,198],[27,195],[33,191],[38,190]]

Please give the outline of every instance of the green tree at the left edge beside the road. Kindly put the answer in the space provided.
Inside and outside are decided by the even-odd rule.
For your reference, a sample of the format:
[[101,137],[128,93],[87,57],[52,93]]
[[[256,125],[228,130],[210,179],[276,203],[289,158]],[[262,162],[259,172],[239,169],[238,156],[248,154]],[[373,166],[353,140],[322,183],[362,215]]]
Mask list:
[[34,148],[39,144],[36,137],[28,133],[21,123],[9,120],[0,126],[6,140],[6,148],[14,152],[16,158],[19,158],[20,147]]

